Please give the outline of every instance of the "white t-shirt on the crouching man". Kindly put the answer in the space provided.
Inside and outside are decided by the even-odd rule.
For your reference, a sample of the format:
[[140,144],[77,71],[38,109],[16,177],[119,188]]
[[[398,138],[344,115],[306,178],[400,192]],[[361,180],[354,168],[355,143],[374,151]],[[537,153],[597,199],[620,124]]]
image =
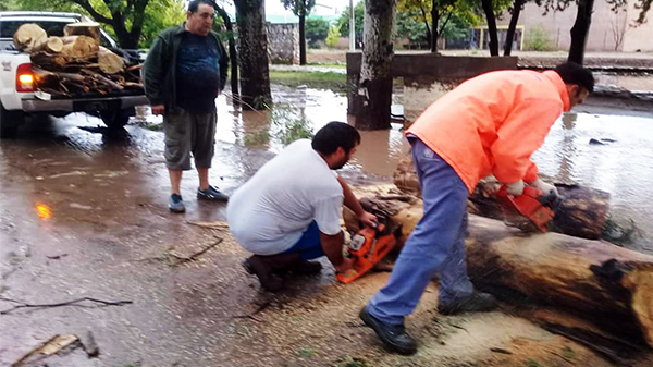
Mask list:
[[231,196],[226,218],[245,249],[274,255],[293,247],[313,220],[320,232],[340,233],[343,199],[336,173],[311,140],[299,139]]

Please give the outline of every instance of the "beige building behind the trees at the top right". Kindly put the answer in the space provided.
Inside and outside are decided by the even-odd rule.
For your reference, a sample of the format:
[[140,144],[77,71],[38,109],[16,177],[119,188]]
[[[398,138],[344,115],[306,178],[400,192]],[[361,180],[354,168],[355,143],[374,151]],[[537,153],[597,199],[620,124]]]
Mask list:
[[[532,2],[527,3],[518,22],[517,40],[514,49],[532,49],[533,45],[545,42],[551,50],[568,50],[571,37],[569,32],[576,21],[578,5],[570,4],[565,11],[550,11],[543,15],[543,8]],[[623,51],[623,52],[651,52],[653,51],[653,11],[649,12],[650,21],[636,25],[634,21],[640,13],[634,8],[634,2],[629,1],[628,7],[613,12],[605,1],[594,3],[592,24],[588,38],[588,51]],[[505,40],[505,29],[510,22],[510,14],[505,13],[497,21],[501,45]],[[483,28],[482,26],[480,27]],[[502,28],[504,30],[502,30]],[[480,30],[480,29],[479,29]],[[480,35],[477,30],[479,45],[486,48],[486,34]],[[503,38],[503,39],[502,39]]]

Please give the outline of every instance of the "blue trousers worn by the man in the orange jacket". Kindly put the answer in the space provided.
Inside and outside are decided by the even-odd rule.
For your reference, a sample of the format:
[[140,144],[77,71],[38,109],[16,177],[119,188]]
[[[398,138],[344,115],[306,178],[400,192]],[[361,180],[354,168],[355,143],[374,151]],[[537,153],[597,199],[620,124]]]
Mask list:
[[410,143],[424,201],[423,217],[406,241],[387,284],[367,306],[372,316],[390,325],[404,322],[436,272],[441,305],[473,292],[465,259],[467,186],[421,140],[411,138]]

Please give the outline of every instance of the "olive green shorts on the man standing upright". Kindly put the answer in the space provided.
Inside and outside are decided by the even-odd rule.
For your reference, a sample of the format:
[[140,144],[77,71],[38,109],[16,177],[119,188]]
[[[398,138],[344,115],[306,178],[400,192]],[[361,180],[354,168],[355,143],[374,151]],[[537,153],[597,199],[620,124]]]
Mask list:
[[163,115],[165,166],[173,170],[189,170],[190,154],[195,167],[211,168],[215,145],[215,112],[195,113],[182,108]]

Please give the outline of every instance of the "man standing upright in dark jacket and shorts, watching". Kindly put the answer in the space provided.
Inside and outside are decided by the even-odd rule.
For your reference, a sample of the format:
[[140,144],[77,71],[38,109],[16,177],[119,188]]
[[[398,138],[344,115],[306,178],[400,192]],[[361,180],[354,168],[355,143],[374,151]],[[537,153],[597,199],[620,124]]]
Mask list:
[[198,199],[226,201],[209,184],[215,138],[215,97],[226,83],[229,57],[211,30],[215,11],[211,0],[193,0],[187,20],[163,30],[145,61],[145,93],[153,114],[163,114],[165,162],[170,173],[169,209],[184,212],[180,185],[190,170],[190,154],[199,174]]

